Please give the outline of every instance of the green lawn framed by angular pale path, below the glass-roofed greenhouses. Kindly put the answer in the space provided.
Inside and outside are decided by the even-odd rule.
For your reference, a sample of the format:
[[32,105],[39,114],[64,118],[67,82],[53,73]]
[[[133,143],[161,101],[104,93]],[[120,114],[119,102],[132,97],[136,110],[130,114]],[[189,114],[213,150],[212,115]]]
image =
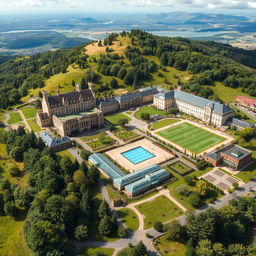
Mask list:
[[166,222],[183,214],[183,211],[166,196],[159,196],[136,208],[145,216],[145,229],[151,228],[156,221]]

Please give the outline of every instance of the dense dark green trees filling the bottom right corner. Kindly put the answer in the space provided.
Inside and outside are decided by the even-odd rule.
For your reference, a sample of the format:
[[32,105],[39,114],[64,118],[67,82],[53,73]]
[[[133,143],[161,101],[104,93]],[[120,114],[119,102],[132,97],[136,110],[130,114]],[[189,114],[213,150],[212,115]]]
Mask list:
[[185,256],[253,256],[255,217],[256,199],[242,198],[219,210],[188,213],[184,226],[173,220],[165,231],[169,240],[186,243]]

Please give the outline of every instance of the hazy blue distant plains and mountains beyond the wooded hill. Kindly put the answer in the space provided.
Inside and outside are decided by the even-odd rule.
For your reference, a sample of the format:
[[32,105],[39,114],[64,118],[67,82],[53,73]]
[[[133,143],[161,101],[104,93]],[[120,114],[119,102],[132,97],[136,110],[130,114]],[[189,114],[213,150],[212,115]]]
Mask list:
[[0,20],[0,54],[28,55],[69,48],[103,39],[113,31],[135,28],[156,35],[256,47],[255,22],[253,17],[188,12],[8,17]]

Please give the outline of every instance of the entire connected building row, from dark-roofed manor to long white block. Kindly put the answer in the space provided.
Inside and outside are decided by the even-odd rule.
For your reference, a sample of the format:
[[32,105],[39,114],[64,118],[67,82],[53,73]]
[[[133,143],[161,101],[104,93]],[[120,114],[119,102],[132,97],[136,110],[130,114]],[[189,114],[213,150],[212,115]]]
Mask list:
[[154,103],[161,110],[172,107],[192,115],[206,124],[220,127],[233,116],[233,109],[225,104],[210,101],[180,90],[166,91],[159,87],[147,87],[137,91],[96,101],[92,83],[82,90],[49,96],[42,92],[42,111],[37,113],[41,127],[53,126],[61,136],[82,133],[103,126],[103,115]]

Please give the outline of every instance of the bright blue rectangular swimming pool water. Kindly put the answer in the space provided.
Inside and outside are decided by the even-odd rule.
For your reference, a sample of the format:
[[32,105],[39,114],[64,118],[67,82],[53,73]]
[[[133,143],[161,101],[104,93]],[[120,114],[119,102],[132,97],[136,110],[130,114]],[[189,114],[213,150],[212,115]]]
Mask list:
[[123,157],[128,159],[133,164],[139,164],[141,162],[144,162],[150,158],[155,157],[154,154],[150,153],[143,147],[137,147],[133,148],[131,150],[125,151],[121,153]]

